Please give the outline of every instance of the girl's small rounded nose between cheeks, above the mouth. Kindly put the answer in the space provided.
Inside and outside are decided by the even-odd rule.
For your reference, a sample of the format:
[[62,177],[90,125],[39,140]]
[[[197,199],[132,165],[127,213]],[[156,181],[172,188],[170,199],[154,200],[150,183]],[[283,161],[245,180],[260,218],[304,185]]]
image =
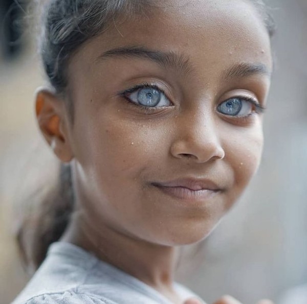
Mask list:
[[171,144],[170,153],[176,158],[207,162],[223,159],[225,151],[212,115],[197,114],[189,118],[182,114],[177,118],[176,138]]

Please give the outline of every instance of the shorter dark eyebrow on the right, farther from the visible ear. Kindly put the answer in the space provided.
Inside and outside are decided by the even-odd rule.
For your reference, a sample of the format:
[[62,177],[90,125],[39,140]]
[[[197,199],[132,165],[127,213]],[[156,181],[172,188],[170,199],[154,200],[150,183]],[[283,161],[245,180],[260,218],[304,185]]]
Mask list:
[[224,72],[222,78],[228,80],[230,78],[244,78],[256,74],[270,77],[272,73],[263,63],[238,63],[232,65],[226,72]]

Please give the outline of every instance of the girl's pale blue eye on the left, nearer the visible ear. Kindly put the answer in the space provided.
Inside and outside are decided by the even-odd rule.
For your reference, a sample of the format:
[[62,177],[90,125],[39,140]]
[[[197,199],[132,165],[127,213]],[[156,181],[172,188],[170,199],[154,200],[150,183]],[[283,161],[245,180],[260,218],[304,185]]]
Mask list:
[[128,101],[143,107],[167,107],[171,102],[157,86],[141,85],[121,93]]

